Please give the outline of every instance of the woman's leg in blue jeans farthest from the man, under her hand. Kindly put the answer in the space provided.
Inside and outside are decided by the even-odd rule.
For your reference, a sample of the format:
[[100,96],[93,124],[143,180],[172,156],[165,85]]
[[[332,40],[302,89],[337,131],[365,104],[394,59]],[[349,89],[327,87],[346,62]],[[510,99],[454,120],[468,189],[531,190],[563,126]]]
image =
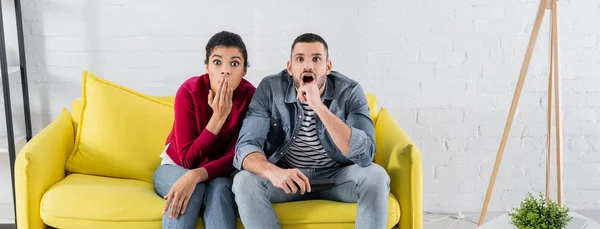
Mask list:
[[[161,165],[156,169],[154,173],[154,190],[161,197],[164,197],[169,193],[171,187],[175,182],[187,173],[189,170],[177,166],[177,165]],[[204,200],[204,183],[198,183],[190,200],[188,201],[185,213],[179,215],[177,218],[170,219],[169,213],[171,212],[171,206],[168,211],[163,214],[162,228],[177,228],[177,229],[194,229],[196,228],[196,222],[200,217],[200,209]],[[162,209],[161,209],[162,211]]]

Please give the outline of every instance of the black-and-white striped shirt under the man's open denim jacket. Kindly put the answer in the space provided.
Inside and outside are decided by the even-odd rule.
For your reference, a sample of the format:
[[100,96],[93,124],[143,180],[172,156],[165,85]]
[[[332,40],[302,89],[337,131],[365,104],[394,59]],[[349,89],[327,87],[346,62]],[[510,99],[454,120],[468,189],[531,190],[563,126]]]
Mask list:
[[321,145],[317,135],[315,112],[308,104],[300,104],[304,111],[300,131],[288,152],[281,158],[280,165],[284,168],[330,168],[339,165],[327,155]]

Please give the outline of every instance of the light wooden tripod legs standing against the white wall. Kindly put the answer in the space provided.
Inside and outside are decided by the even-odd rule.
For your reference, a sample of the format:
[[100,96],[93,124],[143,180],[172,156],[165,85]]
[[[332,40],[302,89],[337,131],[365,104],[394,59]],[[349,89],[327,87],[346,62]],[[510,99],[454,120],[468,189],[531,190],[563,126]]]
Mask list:
[[[481,226],[485,220],[485,214],[487,211],[488,204],[490,202],[490,197],[492,195],[492,190],[494,189],[494,182],[496,181],[496,175],[498,175],[498,168],[500,167],[500,162],[502,161],[502,155],[504,154],[504,147],[506,146],[506,140],[508,139],[508,135],[510,132],[510,128],[512,126],[513,118],[515,117],[515,110],[517,109],[517,104],[519,103],[519,97],[521,96],[521,91],[523,89],[523,83],[525,82],[525,75],[527,74],[527,70],[529,69],[529,63],[531,62],[531,55],[533,54],[533,48],[535,47],[535,42],[540,32],[540,27],[542,24],[542,19],[544,18],[544,14],[546,10],[549,10],[552,14],[552,21],[550,23],[550,74],[548,77],[548,138],[546,139],[546,147],[548,149],[546,155],[546,199],[550,200],[550,160],[551,160],[551,146],[552,146],[552,95],[554,95],[554,108],[555,108],[555,121],[556,121],[556,178],[557,178],[557,189],[558,189],[558,206],[562,207],[563,205],[563,190],[562,190],[562,126],[560,122],[560,78],[558,77],[558,25],[557,25],[557,1],[558,0],[540,0],[540,6],[537,12],[537,16],[535,18],[535,23],[533,25],[533,30],[531,33],[531,37],[529,38],[529,44],[527,45],[527,51],[525,52],[525,59],[523,61],[523,65],[521,66],[521,73],[519,75],[519,81],[517,83],[517,88],[515,90],[515,94],[513,97],[512,104],[510,106],[510,112],[508,114],[508,119],[506,120],[506,125],[504,126],[504,134],[502,135],[502,140],[500,142],[500,148],[498,149],[498,155],[496,156],[496,162],[494,164],[494,170],[492,171],[492,177],[490,179],[490,183],[488,186],[488,190],[485,196],[485,202],[483,203],[483,209],[481,210],[481,215],[479,216],[479,224]],[[553,89],[554,86],[554,89]],[[554,91],[553,91],[554,90]],[[553,94],[554,92],[554,94]]]

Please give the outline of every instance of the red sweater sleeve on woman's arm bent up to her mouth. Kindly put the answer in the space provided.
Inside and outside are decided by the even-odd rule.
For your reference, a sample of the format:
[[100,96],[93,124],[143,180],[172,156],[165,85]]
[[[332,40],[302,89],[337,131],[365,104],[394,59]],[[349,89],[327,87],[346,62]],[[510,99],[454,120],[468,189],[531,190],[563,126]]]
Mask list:
[[198,133],[197,114],[190,93],[187,88],[181,87],[175,96],[174,134],[177,138],[177,153],[186,169],[197,167],[217,139],[217,136],[206,128]]

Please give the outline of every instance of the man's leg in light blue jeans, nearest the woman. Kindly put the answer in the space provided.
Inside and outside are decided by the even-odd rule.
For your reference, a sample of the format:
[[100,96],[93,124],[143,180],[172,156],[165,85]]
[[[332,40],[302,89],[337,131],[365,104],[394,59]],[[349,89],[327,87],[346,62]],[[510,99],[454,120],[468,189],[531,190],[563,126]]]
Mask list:
[[233,193],[240,218],[246,229],[281,228],[279,219],[271,203],[298,201],[308,198],[308,194],[288,195],[267,179],[243,170],[233,178]]

